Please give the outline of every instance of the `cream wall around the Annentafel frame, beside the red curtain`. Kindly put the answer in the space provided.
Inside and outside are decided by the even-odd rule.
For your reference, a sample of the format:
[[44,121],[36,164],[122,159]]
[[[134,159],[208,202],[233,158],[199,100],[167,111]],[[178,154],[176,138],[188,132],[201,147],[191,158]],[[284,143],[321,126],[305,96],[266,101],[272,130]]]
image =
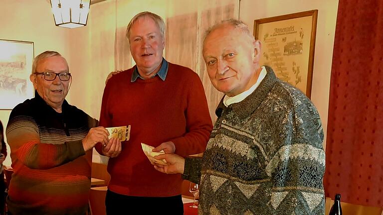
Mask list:
[[318,23],[311,100],[318,109],[326,134],[338,0],[240,0],[239,17],[253,32],[255,19],[313,9],[318,9]]

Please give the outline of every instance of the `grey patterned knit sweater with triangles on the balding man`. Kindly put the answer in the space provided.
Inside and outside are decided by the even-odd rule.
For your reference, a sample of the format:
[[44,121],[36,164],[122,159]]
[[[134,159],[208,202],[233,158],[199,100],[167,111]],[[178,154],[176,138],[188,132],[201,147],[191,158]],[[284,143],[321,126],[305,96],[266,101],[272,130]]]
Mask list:
[[242,102],[221,101],[203,159],[186,159],[183,177],[200,183],[199,215],[324,215],[318,112],[266,69]]

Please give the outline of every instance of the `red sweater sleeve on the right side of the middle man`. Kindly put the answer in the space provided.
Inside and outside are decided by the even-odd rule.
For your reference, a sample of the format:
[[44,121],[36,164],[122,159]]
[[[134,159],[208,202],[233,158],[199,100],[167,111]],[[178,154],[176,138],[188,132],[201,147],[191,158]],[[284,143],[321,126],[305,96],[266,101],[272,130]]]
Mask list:
[[187,133],[169,140],[176,146],[175,153],[183,157],[203,152],[213,128],[202,83],[194,72],[191,78],[185,111]]

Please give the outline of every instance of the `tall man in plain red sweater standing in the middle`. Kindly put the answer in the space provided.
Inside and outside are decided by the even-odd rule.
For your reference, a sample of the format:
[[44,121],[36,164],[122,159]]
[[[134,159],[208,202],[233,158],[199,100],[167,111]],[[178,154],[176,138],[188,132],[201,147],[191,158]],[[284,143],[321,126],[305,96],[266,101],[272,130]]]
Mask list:
[[[121,154],[108,162],[108,215],[126,214],[126,209],[183,215],[181,175],[156,171],[141,143],[156,147],[153,151],[186,157],[204,151],[212,130],[198,75],[162,56],[164,31],[160,16],[151,12],[134,16],[126,36],[136,66],[114,75],[104,90],[100,125],[131,125]],[[98,144],[96,149],[102,154],[105,147]]]

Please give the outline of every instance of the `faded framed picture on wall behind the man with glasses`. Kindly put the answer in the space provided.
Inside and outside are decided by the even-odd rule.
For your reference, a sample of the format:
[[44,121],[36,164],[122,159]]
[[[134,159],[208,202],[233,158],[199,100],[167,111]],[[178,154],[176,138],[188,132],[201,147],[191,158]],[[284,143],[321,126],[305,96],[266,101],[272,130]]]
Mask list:
[[33,98],[33,58],[33,42],[0,39],[0,109],[13,109]]

